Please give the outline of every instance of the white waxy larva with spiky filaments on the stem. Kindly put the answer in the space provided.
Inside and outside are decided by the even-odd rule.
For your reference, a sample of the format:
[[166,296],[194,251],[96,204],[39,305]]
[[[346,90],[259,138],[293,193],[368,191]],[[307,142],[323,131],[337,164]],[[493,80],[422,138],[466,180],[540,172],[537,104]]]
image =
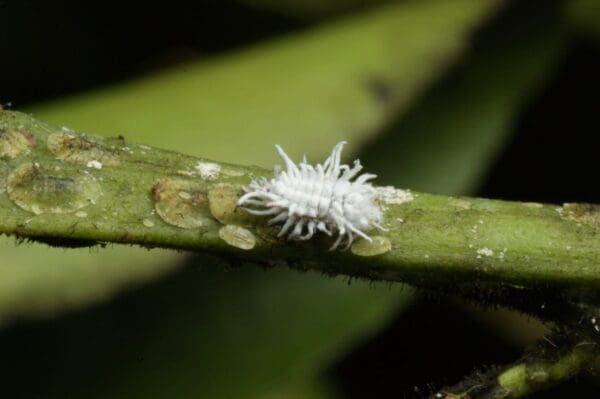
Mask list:
[[329,236],[337,233],[331,250],[344,239],[346,248],[350,247],[357,236],[371,241],[366,231],[385,230],[380,224],[381,209],[375,202],[377,191],[368,183],[377,176],[365,173],[351,181],[362,165],[358,159],[352,168],[340,165],[344,144],[338,143],[322,165],[308,164],[306,156],[296,165],[276,145],[287,170],[276,165],[271,180],[250,182],[238,205],[253,215],[273,215],[269,224],[283,223],[279,237],[287,234],[288,239],[308,240],[315,231]]

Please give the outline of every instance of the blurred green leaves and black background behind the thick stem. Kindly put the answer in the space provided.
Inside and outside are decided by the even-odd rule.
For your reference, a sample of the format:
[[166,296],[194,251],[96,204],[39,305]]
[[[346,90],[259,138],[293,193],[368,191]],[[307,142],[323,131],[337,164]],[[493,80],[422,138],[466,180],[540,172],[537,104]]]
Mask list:
[[[600,202],[582,145],[600,111],[599,3],[1,1],[0,101],[220,161],[271,167],[275,143],[317,160],[348,139],[382,184]],[[543,331],[399,284],[0,246],[7,397],[422,397]]]

